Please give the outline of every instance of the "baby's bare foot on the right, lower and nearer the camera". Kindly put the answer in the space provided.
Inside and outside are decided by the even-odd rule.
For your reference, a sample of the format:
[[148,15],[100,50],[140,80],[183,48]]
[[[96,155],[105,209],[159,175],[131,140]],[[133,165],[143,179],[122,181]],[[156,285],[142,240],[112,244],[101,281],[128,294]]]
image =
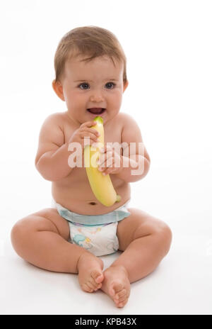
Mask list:
[[117,307],[123,307],[130,294],[130,282],[128,274],[123,266],[111,266],[105,269],[102,291],[116,303]]

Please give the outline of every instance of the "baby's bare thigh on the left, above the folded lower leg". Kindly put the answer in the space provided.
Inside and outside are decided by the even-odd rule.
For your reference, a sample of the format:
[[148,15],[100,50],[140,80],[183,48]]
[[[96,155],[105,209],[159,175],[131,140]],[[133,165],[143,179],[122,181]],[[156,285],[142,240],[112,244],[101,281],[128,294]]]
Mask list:
[[19,235],[29,235],[35,231],[54,232],[69,240],[69,223],[55,208],[45,208],[20,219],[13,226],[11,237],[20,238]]

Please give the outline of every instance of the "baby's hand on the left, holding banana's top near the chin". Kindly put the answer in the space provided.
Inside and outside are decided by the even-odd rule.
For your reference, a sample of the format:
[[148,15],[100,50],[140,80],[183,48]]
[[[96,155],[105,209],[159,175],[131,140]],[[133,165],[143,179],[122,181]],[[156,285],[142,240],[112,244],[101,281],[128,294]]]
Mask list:
[[[99,133],[97,130],[90,128],[92,126],[95,126],[96,122],[95,121],[87,121],[84,122],[80,128],[76,129],[73,135],[71,136],[69,143],[80,143],[82,146],[82,150],[85,145],[93,145],[93,143],[98,143],[98,137]],[[90,137],[90,140],[88,141],[85,140],[85,145],[84,145],[84,138]]]

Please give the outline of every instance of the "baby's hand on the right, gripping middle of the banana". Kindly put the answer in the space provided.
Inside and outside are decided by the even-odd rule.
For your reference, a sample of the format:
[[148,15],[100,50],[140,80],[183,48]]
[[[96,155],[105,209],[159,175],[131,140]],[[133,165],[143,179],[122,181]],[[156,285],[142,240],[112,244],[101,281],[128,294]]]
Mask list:
[[[119,155],[110,145],[105,145],[103,149],[104,151],[100,153],[100,157],[97,162],[100,172],[104,175],[118,174],[121,172],[123,169],[122,155]],[[120,164],[120,167],[114,167],[114,164],[117,164],[117,166]]]

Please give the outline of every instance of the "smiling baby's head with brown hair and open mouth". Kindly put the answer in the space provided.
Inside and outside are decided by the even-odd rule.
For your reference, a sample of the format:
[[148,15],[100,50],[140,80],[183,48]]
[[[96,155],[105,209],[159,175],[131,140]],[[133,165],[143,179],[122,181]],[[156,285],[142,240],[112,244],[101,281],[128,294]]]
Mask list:
[[[128,86],[126,57],[113,33],[105,28],[74,28],[60,40],[54,56],[52,87],[77,124],[100,115],[104,123],[117,115]],[[92,114],[88,108],[104,108]],[[98,111],[97,111],[98,112]]]

